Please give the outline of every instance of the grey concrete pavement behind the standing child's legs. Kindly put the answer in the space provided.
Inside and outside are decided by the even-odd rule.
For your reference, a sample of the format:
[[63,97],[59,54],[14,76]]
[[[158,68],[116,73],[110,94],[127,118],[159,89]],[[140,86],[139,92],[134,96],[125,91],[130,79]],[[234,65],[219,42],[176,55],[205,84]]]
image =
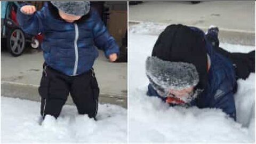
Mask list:
[[[1,95],[39,101],[38,86],[42,76],[43,52],[28,50],[20,57],[1,52]],[[127,63],[111,63],[99,51],[94,62],[100,87],[100,103],[127,107]],[[68,99],[68,104],[73,101]]]

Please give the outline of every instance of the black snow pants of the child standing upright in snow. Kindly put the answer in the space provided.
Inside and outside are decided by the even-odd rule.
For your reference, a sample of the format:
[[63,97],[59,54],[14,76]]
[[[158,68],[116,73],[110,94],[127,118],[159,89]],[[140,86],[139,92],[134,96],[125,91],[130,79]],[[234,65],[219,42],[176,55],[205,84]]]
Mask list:
[[78,113],[95,118],[98,111],[99,87],[93,69],[77,76],[68,76],[54,70],[46,63],[39,86],[41,95],[41,115],[57,118],[71,95]]

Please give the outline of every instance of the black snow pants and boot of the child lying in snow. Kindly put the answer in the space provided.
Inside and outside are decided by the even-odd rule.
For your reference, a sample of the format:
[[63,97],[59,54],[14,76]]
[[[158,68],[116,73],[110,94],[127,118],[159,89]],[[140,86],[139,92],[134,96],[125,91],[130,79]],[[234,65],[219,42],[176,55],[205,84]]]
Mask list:
[[250,73],[255,73],[255,50],[249,53],[228,52],[219,47],[218,36],[206,34],[206,38],[212,44],[215,52],[222,54],[233,62],[236,79],[246,79]]

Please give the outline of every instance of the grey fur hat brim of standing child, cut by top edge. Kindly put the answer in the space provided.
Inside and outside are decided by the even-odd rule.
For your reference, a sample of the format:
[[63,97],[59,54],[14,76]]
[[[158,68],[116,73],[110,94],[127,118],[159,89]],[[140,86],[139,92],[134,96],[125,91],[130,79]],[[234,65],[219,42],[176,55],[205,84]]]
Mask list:
[[85,15],[90,11],[89,1],[52,1],[57,9],[71,15]]

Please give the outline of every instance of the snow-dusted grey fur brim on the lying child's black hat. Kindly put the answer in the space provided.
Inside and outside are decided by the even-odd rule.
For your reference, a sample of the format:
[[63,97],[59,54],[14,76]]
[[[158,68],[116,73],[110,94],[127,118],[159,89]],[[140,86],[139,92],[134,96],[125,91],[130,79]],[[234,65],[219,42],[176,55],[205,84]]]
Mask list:
[[199,76],[196,67],[186,62],[163,61],[157,57],[146,60],[146,75],[158,94],[165,96],[166,90],[196,86]]

